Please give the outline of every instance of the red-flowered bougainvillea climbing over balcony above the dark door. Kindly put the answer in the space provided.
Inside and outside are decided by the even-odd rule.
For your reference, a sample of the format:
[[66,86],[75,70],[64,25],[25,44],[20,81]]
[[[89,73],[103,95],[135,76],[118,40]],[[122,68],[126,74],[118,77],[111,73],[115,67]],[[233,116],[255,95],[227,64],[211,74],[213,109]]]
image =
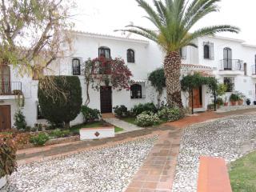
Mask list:
[[84,76],[86,83],[86,103],[90,103],[89,87],[94,90],[100,90],[100,86],[111,85],[115,90],[130,90],[130,69],[125,65],[122,58],[90,58],[85,62]]

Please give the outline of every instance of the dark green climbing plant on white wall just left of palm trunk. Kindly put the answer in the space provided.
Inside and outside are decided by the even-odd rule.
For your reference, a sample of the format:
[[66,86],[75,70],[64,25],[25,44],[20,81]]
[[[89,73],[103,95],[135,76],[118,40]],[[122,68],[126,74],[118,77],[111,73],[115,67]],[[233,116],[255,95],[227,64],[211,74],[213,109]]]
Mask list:
[[159,68],[150,73],[149,81],[158,91],[158,107],[160,106],[162,91],[166,87],[166,77],[163,68]]

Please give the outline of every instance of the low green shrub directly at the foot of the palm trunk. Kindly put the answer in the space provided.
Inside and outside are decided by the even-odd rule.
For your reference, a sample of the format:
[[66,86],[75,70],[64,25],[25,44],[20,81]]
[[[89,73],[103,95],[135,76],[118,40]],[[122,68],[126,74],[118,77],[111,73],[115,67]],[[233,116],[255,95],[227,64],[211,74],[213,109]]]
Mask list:
[[166,118],[168,122],[174,122],[180,118],[184,118],[185,110],[176,108],[163,107],[158,111],[159,118]]

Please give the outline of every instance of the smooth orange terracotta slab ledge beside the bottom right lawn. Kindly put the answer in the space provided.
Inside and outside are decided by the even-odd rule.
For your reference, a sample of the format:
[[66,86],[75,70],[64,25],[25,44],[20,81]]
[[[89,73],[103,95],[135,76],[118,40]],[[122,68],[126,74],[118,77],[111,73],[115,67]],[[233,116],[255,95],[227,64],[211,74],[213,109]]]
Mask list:
[[223,158],[200,157],[198,192],[232,192]]

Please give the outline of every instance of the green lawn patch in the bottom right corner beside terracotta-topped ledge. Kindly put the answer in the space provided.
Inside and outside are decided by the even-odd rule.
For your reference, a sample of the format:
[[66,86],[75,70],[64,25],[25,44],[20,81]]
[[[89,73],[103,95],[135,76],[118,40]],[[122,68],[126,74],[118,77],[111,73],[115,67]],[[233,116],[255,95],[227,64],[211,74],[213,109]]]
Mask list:
[[256,191],[256,151],[230,164],[233,192]]

